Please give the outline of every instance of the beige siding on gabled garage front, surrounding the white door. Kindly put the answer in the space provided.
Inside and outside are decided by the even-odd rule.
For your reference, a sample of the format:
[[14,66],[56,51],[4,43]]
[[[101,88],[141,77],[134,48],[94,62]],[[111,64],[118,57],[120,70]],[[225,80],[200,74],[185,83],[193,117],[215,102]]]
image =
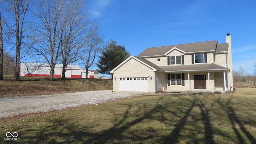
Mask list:
[[[132,60],[134,61],[133,64],[131,63]],[[150,76],[152,76],[152,80],[150,80]],[[113,90],[119,91],[119,78],[148,77],[148,92],[155,92],[154,76],[155,73],[151,68],[131,58],[114,71]]]

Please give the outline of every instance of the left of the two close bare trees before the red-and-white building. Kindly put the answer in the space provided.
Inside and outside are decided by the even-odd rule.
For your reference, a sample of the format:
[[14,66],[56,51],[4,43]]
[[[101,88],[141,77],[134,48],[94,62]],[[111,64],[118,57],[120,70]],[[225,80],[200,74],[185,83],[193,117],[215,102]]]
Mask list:
[[64,24],[64,0],[38,0],[36,17],[40,23],[36,27],[36,36],[33,39],[33,54],[42,55],[49,64],[50,80],[54,80],[54,68],[60,56]]

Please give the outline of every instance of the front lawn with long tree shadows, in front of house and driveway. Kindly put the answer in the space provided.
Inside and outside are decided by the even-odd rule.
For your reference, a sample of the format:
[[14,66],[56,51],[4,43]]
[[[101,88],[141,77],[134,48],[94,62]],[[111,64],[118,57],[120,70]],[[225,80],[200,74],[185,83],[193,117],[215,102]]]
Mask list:
[[256,144],[256,88],[234,94],[136,96],[0,120],[0,143]]

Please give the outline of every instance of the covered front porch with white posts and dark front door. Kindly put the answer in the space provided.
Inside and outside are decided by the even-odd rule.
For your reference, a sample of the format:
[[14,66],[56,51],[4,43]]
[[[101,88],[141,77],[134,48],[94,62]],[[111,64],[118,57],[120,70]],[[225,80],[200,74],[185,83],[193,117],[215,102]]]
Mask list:
[[[206,65],[205,65],[206,66]],[[172,68],[172,67],[169,67]],[[189,67],[188,67],[189,68]],[[228,92],[227,68],[205,70],[165,70],[163,91],[166,92]]]

